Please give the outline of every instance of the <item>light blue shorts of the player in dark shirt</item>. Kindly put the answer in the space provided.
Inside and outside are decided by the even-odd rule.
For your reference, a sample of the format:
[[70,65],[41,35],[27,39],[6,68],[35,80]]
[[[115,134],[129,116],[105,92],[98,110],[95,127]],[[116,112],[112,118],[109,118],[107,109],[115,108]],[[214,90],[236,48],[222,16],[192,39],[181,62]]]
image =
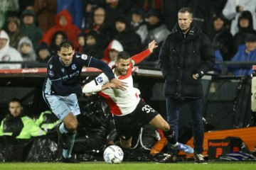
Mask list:
[[80,114],[80,108],[78,106],[78,98],[76,94],[70,94],[69,96],[55,96],[44,94],[44,99],[53,113],[63,120],[68,113],[74,115]]

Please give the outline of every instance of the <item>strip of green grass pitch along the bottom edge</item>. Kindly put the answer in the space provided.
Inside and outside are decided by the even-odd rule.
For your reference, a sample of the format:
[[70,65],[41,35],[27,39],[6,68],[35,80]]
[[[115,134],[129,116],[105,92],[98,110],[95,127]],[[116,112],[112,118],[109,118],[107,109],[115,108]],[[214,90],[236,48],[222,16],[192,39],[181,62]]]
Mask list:
[[153,162],[123,162],[107,164],[105,162],[82,162],[80,164],[63,163],[1,163],[1,170],[255,170],[256,162],[208,162],[208,164],[178,163],[156,164]]

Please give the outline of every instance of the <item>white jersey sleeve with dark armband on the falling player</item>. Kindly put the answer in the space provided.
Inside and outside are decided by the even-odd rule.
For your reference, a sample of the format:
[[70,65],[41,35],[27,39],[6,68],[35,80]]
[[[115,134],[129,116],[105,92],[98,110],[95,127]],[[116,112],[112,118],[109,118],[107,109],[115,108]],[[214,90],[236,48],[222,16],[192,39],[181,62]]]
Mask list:
[[107,84],[110,82],[105,74],[100,74],[94,80],[90,81],[89,83],[85,84],[82,89],[82,93],[90,94],[95,93],[98,91],[102,91],[102,85]]

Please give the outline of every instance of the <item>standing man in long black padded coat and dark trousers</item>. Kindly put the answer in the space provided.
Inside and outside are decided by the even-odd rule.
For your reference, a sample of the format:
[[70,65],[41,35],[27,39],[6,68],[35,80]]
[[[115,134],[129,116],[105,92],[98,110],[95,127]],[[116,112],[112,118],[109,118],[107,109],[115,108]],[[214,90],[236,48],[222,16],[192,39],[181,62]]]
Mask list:
[[[203,159],[203,87],[201,78],[213,69],[213,45],[193,23],[190,8],[178,11],[178,23],[161,46],[159,67],[164,76],[167,121],[178,137],[179,107],[185,103],[191,110],[195,163]],[[163,163],[169,162],[163,159]]]

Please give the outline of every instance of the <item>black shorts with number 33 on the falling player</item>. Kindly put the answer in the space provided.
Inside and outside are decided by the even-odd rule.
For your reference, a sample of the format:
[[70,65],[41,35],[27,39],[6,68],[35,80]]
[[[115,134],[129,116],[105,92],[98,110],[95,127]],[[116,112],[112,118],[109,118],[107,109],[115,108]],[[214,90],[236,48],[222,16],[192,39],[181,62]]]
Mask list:
[[132,113],[123,116],[114,115],[114,123],[118,136],[122,140],[129,140],[130,137],[139,132],[139,129],[143,125],[149,124],[158,114],[158,112],[141,99]]

